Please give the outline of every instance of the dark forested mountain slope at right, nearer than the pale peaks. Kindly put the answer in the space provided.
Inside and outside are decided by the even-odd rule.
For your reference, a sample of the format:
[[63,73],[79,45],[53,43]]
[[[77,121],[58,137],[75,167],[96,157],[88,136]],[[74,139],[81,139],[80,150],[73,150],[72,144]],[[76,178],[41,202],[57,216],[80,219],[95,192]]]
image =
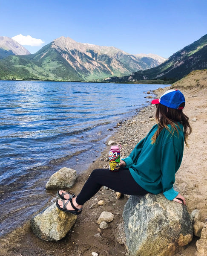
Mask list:
[[111,77],[108,82],[144,82],[152,80],[177,81],[193,70],[207,69],[207,35],[183,49],[157,67],[141,70],[124,77]]

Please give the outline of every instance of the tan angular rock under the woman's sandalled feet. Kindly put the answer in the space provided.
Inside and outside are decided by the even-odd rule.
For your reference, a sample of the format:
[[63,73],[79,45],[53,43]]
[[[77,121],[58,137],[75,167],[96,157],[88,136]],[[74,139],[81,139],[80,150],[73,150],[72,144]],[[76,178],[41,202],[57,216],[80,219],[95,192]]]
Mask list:
[[32,231],[45,241],[62,239],[77,219],[77,215],[63,212],[56,207],[56,203],[32,217],[30,223]]

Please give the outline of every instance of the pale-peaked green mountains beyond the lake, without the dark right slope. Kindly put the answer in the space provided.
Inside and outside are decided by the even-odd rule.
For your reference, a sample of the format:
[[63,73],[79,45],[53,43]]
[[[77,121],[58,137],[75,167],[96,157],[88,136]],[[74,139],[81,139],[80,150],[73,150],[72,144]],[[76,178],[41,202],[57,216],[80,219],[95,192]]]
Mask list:
[[[6,47],[9,48],[8,45]],[[4,45],[3,56],[0,52],[0,79],[95,81],[110,76],[126,76],[165,61],[158,55],[131,55],[115,47],[78,43],[63,36],[35,54],[22,50],[14,55],[11,54],[14,53],[13,47],[8,51],[10,56],[5,58],[6,47]]]

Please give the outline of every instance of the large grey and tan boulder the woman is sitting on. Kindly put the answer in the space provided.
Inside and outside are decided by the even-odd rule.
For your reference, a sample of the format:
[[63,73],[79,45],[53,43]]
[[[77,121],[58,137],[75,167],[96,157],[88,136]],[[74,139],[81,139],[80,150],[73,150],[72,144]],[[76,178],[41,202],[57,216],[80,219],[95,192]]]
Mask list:
[[171,256],[193,239],[187,207],[162,194],[130,196],[123,218],[132,256]]

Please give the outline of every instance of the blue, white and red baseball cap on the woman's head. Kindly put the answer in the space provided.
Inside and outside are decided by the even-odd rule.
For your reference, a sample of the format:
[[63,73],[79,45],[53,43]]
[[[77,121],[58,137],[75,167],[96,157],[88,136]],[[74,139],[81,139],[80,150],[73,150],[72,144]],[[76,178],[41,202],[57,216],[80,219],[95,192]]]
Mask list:
[[[181,107],[180,105],[183,104]],[[168,108],[183,109],[185,97],[179,90],[167,90],[160,99],[153,99],[152,104],[162,104]]]

